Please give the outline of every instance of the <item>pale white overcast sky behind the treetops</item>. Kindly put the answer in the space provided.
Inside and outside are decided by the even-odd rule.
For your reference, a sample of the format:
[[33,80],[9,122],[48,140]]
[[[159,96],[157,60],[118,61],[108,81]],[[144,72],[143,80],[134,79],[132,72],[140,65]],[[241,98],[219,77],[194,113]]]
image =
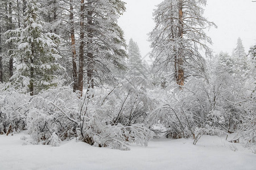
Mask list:
[[[152,12],[163,0],[123,0],[126,12],[119,19],[119,25],[129,42],[133,38],[139,45],[142,57],[150,52],[147,33],[154,28]],[[213,41],[210,46],[214,52],[228,52],[236,47],[237,38],[241,37],[246,53],[251,45],[256,44],[256,2],[251,0],[208,0],[205,17],[217,24],[207,33]]]

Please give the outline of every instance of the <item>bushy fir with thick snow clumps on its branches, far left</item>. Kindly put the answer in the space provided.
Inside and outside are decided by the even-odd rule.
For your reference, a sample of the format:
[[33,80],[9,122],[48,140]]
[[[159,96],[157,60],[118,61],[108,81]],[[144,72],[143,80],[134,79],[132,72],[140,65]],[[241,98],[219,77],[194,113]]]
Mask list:
[[28,0],[23,28],[6,32],[12,36],[7,42],[17,44],[11,54],[16,60],[15,74],[11,79],[28,90],[30,95],[56,86],[55,71],[63,69],[56,62],[61,58],[56,50],[59,36],[43,32],[39,6],[36,0]]

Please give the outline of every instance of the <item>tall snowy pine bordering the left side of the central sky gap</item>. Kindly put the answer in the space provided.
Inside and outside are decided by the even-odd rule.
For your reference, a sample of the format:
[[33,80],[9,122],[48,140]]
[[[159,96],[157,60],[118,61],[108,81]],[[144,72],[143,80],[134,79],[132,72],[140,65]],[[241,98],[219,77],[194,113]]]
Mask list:
[[94,84],[113,84],[113,69],[125,69],[122,60],[127,56],[123,31],[117,19],[125,11],[120,0],[89,0],[84,12],[85,68],[88,88]]

